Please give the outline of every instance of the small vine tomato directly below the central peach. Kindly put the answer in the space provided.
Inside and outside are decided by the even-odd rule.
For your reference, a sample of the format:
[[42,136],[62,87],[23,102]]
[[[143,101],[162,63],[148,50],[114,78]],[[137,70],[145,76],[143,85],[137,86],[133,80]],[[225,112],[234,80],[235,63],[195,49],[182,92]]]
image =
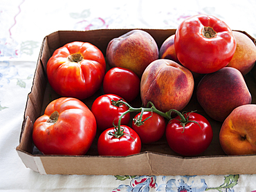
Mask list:
[[160,140],[165,133],[165,118],[161,115],[158,115],[157,113],[144,111],[143,117],[141,119],[141,122],[144,122],[142,125],[138,126],[136,124],[136,120],[138,121],[138,119],[140,119],[140,114],[141,113],[138,113],[134,117],[131,128],[133,128],[134,131],[138,133],[141,142],[148,144]]

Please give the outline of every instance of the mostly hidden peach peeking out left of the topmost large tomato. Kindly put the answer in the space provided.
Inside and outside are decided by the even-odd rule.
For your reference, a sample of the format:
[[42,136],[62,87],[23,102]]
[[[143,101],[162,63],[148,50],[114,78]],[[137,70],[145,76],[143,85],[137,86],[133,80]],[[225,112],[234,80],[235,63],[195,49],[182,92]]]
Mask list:
[[174,48],[174,37],[175,35],[171,35],[163,42],[160,50],[159,50],[159,58],[160,59],[170,59],[180,64],[179,59],[176,56],[175,48]]

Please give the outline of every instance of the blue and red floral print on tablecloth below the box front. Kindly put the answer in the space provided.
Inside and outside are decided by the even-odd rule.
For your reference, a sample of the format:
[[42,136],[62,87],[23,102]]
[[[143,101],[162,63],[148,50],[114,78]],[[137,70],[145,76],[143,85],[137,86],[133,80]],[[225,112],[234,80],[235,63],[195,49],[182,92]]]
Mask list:
[[[158,180],[162,178],[162,180]],[[234,186],[237,185],[239,175],[224,176],[223,184],[214,187],[208,187],[201,176],[120,176],[116,175],[117,180],[131,180],[129,184],[120,184],[118,188],[112,192],[150,192],[150,191],[165,191],[165,192],[201,192],[201,191],[235,191]],[[252,191],[253,192],[253,191]]]

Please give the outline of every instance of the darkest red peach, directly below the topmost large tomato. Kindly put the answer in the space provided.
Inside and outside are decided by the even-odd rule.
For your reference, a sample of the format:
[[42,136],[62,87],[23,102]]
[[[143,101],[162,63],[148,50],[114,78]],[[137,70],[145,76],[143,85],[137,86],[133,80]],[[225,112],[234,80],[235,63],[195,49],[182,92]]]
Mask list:
[[223,122],[237,106],[252,101],[243,75],[231,67],[203,76],[196,88],[196,98],[205,113],[219,122]]

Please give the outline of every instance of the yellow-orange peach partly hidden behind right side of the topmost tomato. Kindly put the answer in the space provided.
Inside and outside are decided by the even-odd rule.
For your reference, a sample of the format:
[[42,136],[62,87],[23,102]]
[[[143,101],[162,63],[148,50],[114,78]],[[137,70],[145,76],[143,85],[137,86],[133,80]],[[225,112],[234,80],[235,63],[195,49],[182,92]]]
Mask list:
[[244,33],[233,31],[237,41],[237,48],[228,67],[237,68],[241,74],[246,75],[255,66],[256,46]]

